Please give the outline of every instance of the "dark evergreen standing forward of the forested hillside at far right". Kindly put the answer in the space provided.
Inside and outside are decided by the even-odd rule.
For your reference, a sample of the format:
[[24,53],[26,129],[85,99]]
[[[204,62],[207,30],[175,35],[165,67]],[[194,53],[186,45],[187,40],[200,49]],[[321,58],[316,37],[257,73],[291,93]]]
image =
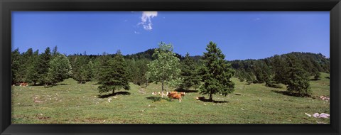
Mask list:
[[286,85],[288,92],[298,94],[301,97],[310,97],[311,90],[309,84],[308,73],[303,70],[301,63],[298,62],[295,55],[288,55],[288,78]]

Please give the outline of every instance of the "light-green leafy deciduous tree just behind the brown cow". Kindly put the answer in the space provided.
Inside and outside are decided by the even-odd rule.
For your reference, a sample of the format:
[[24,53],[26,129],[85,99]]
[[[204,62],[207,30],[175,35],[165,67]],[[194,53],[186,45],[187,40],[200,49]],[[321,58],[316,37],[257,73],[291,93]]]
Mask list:
[[[180,78],[180,60],[173,53],[173,45],[161,42],[155,50],[153,57],[156,60],[148,64],[148,72],[146,77],[148,80],[161,82],[163,93],[164,85],[168,84],[173,87],[180,85],[182,79]],[[161,95],[163,97],[163,95]]]

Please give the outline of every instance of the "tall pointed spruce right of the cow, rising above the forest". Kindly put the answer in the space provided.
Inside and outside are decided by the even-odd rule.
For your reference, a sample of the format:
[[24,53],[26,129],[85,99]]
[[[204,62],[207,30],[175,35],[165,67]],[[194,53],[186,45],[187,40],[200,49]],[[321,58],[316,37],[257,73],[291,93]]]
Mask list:
[[234,91],[234,82],[230,80],[234,71],[230,65],[225,63],[225,56],[217,44],[210,41],[207,45],[207,53],[204,53],[202,68],[204,85],[200,87],[200,94],[210,95],[209,100],[213,101],[212,95],[221,94],[227,96]]

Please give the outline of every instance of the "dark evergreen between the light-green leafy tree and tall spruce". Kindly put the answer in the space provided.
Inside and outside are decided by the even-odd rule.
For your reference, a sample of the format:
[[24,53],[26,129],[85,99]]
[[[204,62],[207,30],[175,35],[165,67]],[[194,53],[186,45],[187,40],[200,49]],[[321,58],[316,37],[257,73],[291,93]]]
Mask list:
[[193,58],[190,58],[190,54],[186,53],[181,68],[181,77],[183,82],[180,84],[184,90],[188,90],[190,87],[200,84],[200,77],[197,75],[195,62]]

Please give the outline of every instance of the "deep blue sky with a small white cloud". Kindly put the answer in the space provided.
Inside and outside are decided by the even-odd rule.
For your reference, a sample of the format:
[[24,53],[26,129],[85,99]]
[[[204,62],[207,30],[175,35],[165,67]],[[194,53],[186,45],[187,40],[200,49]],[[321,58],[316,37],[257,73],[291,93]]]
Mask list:
[[329,11],[12,11],[12,49],[139,53],[172,43],[202,55],[213,41],[226,60],[296,52],[330,57]]

